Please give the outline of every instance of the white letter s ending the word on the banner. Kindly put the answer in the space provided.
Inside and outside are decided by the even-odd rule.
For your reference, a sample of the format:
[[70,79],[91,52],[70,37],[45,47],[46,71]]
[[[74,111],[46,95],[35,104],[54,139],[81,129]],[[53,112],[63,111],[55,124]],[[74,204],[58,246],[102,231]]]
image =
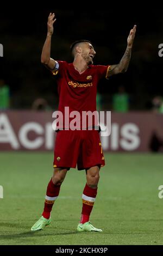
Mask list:
[[139,138],[139,127],[133,123],[124,124],[121,127],[120,145],[122,149],[125,150],[135,150],[139,148],[140,138]]

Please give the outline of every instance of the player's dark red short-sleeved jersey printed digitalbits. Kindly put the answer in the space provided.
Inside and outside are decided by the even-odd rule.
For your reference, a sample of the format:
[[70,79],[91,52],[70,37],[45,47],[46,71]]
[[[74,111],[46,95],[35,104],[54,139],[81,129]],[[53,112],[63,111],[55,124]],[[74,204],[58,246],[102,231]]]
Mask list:
[[65,107],[69,107],[70,113],[78,111],[82,114],[82,111],[96,111],[97,84],[106,76],[109,66],[89,65],[82,74],[79,74],[74,69],[73,63],[58,61],[58,64],[59,71],[53,72],[58,84],[58,111],[63,115]]

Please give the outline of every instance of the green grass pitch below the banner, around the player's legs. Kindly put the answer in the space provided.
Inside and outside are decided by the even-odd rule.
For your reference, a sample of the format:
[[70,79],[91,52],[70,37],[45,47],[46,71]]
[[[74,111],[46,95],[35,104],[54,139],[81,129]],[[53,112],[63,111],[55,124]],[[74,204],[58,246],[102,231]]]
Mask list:
[[103,233],[76,231],[82,209],[85,171],[71,169],[54,203],[52,223],[30,228],[40,217],[52,153],[1,153],[0,245],[163,245],[162,154],[105,153],[91,214]]

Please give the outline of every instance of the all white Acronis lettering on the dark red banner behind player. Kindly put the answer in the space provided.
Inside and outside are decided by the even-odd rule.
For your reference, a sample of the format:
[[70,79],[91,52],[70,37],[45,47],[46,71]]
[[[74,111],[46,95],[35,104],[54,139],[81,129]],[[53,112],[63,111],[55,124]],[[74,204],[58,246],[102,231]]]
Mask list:
[[[108,116],[108,120],[109,119]],[[103,150],[118,151],[122,148],[122,150],[134,151],[139,148],[139,127],[136,124],[126,123],[121,126],[118,123],[112,123],[111,128],[109,127],[108,129],[108,126],[106,127],[103,122],[100,122],[100,126],[103,132],[103,136],[101,136]],[[45,150],[52,150],[54,147],[55,130],[53,129],[51,122],[47,122],[43,125],[39,122],[27,122],[20,127],[18,132],[15,132],[8,115],[2,113],[0,114],[0,145],[1,143],[9,143],[11,148],[15,150],[20,149],[21,146],[28,150],[39,150],[42,146]],[[111,136],[105,136],[108,135],[110,130]],[[28,138],[28,133],[30,131],[36,133],[33,140]],[[100,135],[102,135],[102,132]],[[3,147],[1,147],[1,150],[3,150]]]

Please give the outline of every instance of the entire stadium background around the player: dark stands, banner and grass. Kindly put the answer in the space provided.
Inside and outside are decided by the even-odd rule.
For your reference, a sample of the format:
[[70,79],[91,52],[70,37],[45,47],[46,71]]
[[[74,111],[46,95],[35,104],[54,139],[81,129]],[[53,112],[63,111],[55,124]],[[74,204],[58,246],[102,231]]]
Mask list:
[[[102,235],[79,236],[75,231],[85,182],[77,170],[67,175],[61,200],[54,206],[52,217],[60,216],[59,220],[43,233],[29,231],[41,213],[52,175],[51,123],[58,93],[55,78],[40,62],[50,12],[57,17],[51,56],[67,62],[72,61],[71,43],[87,39],[97,53],[94,64],[117,64],[130,29],[137,25],[128,71],[102,80],[98,87],[98,110],[111,111],[111,136],[102,137],[106,166],[92,214],[93,223],[104,229]],[[18,9],[0,13],[0,185],[4,189],[0,245],[162,244],[161,8],[124,12],[45,7],[29,13]]]

